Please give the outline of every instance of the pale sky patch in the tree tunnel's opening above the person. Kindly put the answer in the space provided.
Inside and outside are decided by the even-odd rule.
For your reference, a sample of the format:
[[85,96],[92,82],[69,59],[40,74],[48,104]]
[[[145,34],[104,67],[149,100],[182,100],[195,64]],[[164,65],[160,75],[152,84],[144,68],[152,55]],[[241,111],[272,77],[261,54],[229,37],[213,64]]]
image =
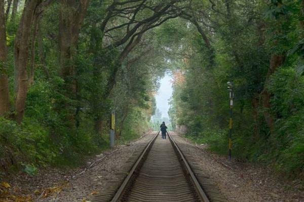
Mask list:
[[166,74],[164,78],[161,79],[160,83],[161,86],[157,91],[156,98],[156,107],[162,112],[163,117],[169,118],[168,110],[169,106],[169,99],[172,95],[172,80],[171,76]]

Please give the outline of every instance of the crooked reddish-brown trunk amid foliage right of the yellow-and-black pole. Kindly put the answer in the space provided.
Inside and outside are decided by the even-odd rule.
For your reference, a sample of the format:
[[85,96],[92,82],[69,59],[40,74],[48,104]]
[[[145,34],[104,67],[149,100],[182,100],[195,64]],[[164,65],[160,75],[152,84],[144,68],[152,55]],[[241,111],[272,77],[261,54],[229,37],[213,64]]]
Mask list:
[[[275,71],[284,63],[285,56],[283,54],[274,54],[271,57],[270,60],[270,67],[268,70],[268,73],[266,75],[265,84],[267,85],[271,75],[275,73]],[[261,92],[261,98],[262,98],[262,106],[263,106],[263,115],[264,119],[268,124],[268,127],[270,128],[270,131],[274,131],[274,118],[269,112],[269,109],[271,107],[270,100],[271,100],[271,93],[268,91],[267,87],[264,86],[264,89]]]

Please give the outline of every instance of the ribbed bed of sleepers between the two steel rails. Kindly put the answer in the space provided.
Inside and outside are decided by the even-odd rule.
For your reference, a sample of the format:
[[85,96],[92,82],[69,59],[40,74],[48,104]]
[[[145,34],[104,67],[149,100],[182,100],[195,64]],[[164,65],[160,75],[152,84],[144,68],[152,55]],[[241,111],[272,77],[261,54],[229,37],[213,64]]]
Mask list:
[[159,135],[129,195],[129,201],[196,201],[169,140]]

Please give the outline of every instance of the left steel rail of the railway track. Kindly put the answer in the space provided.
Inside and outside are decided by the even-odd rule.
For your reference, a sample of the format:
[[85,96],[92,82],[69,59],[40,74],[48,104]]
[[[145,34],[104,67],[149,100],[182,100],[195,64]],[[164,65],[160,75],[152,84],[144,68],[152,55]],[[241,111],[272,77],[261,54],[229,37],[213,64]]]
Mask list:
[[124,182],[122,183],[122,185],[120,186],[120,188],[118,189],[118,191],[116,192],[116,194],[111,199],[111,202],[117,202],[117,201],[119,201],[119,199],[121,198],[121,196],[124,194],[124,190],[126,189],[126,187],[127,187],[128,183],[129,183],[130,179],[132,178],[134,172],[136,171],[137,167],[141,163],[141,161],[142,161],[144,155],[146,154],[147,150],[153,145],[153,143],[156,140],[156,138],[159,135],[159,133],[160,133],[160,131],[158,131],[156,133],[156,135],[149,141],[149,143],[147,144],[147,146],[144,148],[144,150],[142,151],[141,155],[139,156],[139,158],[137,159],[137,161],[133,165],[132,169],[130,170],[128,176],[125,178]]

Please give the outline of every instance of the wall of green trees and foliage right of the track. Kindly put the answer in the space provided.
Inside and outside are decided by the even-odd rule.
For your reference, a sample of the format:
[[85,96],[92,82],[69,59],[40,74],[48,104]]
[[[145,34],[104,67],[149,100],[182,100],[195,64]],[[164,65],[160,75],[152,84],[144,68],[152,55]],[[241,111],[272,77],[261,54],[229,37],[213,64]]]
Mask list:
[[[205,41],[195,34],[194,27],[187,26],[193,34],[183,35],[179,42],[185,48],[173,49],[184,53],[187,61],[179,62],[186,67],[179,68],[182,79],[175,78],[170,118],[176,125],[186,126],[187,138],[226,155],[226,82],[233,81],[233,157],[267,163],[296,177],[304,164],[301,2],[237,1],[229,8],[217,3],[216,8],[222,15],[211,15],[210,21],[203,17],[204,23],[214,28],[209,36],[213,63],[212,53],[206,51]],[[192,47],[191,51],[186,47]],[[270,70],[272,55],[283,55],[284,65]],[[271,94],[269,108],[264,105],[266,90]],[[273,119],[273,131],[265,120],[267,113]]]

